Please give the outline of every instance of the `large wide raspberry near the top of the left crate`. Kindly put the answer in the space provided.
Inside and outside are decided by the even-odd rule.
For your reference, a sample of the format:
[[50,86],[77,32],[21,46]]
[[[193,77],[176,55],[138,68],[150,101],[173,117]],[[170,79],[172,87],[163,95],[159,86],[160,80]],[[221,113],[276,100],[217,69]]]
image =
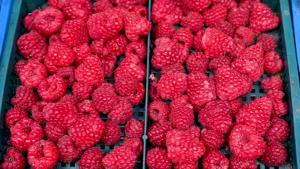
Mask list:
[[87,30],[93,39],[108,40],[123,29],[124,21],[117,14],[102,12],[88,18]]

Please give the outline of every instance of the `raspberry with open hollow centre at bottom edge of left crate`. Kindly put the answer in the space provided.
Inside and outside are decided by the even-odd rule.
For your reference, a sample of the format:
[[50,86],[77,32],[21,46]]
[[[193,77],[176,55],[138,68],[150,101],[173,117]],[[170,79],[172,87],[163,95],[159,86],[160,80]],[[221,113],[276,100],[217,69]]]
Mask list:
[[36,168],[53,168],[58,160],[58,151],[52,142],[40,140],[28,149],[27,160],[29,165]]

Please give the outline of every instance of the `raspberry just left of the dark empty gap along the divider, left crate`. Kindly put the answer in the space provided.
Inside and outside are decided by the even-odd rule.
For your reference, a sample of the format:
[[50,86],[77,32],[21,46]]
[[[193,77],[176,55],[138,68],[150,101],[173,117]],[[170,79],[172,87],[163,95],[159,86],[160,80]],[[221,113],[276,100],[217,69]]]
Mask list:
[[126,98],[118,97],[117,103],[108,112],[108,118],[117,124],[128,122],[133,117],[133,108]]

